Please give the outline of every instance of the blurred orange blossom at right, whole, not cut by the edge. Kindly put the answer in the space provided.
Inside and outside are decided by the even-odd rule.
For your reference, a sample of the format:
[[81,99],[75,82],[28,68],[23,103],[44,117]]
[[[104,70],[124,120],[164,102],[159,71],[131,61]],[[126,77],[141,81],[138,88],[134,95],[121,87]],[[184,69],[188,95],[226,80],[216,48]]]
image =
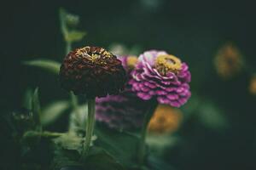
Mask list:
[[230,79],[241,72],[242,55],[233,43],[228,42],[218,49],[214,64],[220,77]]

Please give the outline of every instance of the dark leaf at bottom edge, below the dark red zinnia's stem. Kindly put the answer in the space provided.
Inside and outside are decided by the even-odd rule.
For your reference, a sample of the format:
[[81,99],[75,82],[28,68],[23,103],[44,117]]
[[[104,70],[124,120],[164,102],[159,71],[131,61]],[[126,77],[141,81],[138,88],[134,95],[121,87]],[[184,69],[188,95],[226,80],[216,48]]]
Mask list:
[[124,170],[125,168],[109,155],[106,150],[99,147],[90,149],[89,155],[85,159],[84,167],[90,170]]

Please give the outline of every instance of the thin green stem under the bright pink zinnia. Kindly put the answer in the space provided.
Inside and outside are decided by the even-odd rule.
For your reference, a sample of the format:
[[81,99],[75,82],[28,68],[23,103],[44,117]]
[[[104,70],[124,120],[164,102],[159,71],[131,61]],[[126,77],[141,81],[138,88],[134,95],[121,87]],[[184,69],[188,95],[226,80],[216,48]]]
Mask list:
[[138,164],[141,166],[143,165],[144,159],[145,159],[146,136],[147,136],[147,132],[148,132],[148,123],[149,123],[151,117],[154,115],[156,106],[157,106],[156,101],[149,103],[148,111],[146,112],[146,114],[144,116],[141,139],[140,139],[138,152],[137,152],[137,161],[138,161]]

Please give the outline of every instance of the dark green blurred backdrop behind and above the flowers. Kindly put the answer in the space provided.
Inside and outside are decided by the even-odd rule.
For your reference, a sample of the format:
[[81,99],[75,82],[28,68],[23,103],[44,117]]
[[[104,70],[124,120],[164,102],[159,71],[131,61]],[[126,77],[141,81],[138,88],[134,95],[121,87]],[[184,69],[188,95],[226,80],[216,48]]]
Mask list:
[[[42,105],[68,97],[55,76],[21,65],[29,59],[63,59],[62,7],[80,16],[79,29],[87,33],[73,48],[119,44],[137,52],[163,49],[188,63],[192,97],[181,108],[185,121],[176,132],[180,142],[161,151],[162,159],[178,170],[256,168],[252,4],[84,0],[6,1],[1,6],[1,115],[20,107],[27,88],[40,88]],[[226,61],[226,54],[235,57]]]

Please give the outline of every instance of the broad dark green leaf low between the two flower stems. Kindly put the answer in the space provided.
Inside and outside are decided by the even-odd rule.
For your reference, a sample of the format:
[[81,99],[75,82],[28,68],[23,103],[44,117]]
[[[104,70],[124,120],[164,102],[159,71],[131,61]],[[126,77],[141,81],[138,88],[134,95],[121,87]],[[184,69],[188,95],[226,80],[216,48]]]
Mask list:
[[96,135],[98,137],[96,145],[108,150],[109,154],[119,162],[122,162],[126,167],[136,164],[137,144],[139,142],[137,136],[100,126],[96,127]]

